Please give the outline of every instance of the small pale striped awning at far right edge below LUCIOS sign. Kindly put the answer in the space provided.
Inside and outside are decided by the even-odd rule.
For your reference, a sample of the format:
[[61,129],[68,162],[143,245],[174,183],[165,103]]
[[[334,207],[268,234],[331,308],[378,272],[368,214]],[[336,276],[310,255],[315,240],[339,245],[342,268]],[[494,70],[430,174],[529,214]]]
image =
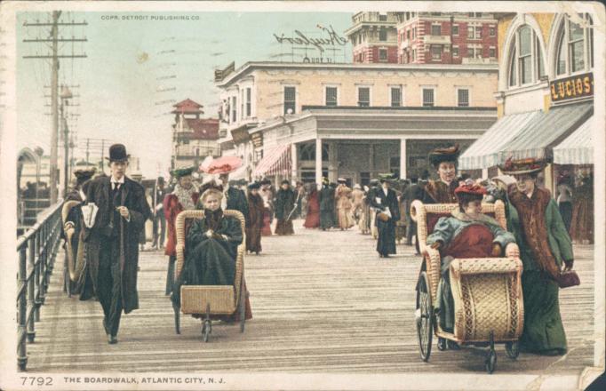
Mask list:
[[594,126],[591,116],[560,145],[554,147],[555,164],[594,164]]

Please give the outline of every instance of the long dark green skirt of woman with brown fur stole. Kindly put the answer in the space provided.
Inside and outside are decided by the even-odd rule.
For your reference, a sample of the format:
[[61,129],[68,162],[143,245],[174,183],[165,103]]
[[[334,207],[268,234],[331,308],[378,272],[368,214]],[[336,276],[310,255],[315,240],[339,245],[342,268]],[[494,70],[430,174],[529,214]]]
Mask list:
[[566,353],[559,290],[557,283],[541,271],[522,273],[524,331],[520,345],[524,351],[550,355]]

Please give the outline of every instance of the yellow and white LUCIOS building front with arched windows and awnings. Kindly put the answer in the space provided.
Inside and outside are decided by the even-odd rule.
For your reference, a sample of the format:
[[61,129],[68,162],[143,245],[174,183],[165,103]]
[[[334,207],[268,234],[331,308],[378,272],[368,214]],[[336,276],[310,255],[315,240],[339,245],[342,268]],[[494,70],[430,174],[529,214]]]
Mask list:
[[594,16],[505,13],[498,30],[499,119],[459,165],[491,177],[508,157],[545,158],[542,185],[556,195],[564,177],[593,175]]

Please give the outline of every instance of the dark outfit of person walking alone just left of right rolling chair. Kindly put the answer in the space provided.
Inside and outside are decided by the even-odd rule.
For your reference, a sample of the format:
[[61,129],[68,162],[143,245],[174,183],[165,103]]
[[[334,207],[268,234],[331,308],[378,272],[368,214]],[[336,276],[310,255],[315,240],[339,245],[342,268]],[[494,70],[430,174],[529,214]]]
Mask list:
[[[372,195],[371,206],[373,208],[381,211],[386,211],[388,208],[391,212],[391,219],[387,221],[381,221],[379,217],[375,219],[375,225],[379,231],[377,252],[380,255],[395,254],[395,221],[400,219],[398,197],[391,188],[387,190],[387,195],[385,195],[383,188],[377,188]],[[379,198],[380,202],[377,202],[377,198]]]

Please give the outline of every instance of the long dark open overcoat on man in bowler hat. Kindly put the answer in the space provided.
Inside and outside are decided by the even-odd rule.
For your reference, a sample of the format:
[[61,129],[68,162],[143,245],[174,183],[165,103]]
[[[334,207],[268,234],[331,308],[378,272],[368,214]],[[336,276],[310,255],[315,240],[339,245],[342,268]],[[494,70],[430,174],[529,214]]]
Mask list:
[[[126,206],[131,212],[130,221],[120,218],[115,224],[123,224],[124,259],[120,259],[120,271],[122,280],[122,300],[124,313],[128,314],[133,309],[139,308],[139,296],[137,294],[137,267],[139,265],[139,235],[145,221],[149,218],[151,211],[145,197],[143,187],[127,177],[121,185],[121,205]],[[92,228],[85,228],[85,240],[88,245],[88,260],[91,267],[92,283],[95,291],[98,291],[100,244],[109,238],[102,234],[107,229],[110,215],[111,196],[110,177],[100,177],[92,180],[86,193],[86,203],[95,203],[99,207],[97,217]],[[116,205],[117,206],[117,205]],[[120,238],[118,238],[120,243]]]

